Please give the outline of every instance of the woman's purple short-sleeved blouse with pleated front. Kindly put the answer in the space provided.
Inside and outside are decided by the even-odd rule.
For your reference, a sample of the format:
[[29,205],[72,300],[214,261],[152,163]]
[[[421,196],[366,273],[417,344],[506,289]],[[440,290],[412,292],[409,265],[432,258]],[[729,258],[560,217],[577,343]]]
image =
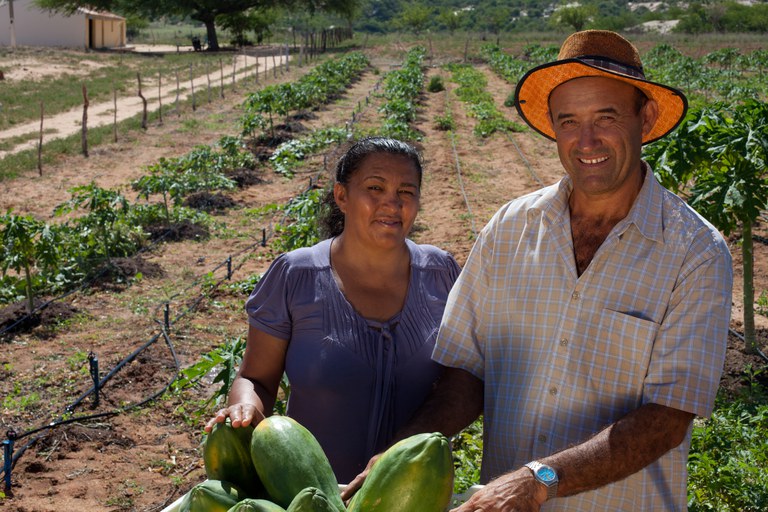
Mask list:
[[405,305],[386,322],[363,318],[341,293],[330,239],[279,256],[246,302],[251,326],[287,340],[287,414],[317,438],[340,483],[389,443],[439,374],[432,348],[460,269],[437,247],[406,242]]

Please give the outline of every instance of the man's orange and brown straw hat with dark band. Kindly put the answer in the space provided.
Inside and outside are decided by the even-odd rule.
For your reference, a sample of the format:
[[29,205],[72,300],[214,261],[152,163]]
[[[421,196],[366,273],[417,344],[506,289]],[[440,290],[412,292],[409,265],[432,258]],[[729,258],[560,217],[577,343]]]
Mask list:
[[534,130],[551,140],[549,95],[558,85],[586,76],[615,78],[634,85],[659,105],[656,125],[643,138],[648,144],[675,129],[685,117],[688,100],[673,88],[645,79],[637,48],[615,32],[585,30],[571,34],[560,47],[557,60],[528,71],[517,83],[515,107]]

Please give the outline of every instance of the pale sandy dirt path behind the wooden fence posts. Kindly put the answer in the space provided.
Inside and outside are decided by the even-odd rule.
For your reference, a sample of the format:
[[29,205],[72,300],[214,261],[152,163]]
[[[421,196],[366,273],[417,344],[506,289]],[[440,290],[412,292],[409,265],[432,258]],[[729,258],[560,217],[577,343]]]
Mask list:
[[[162,104],[163,112],[167,113],[174,108],[177,99],[181,101],[191,98],[193,91],[196,102],[202,104],[207,101],[209,94],[218,96],[222,87],[230,86],[233,82],[250,80],[255,84],[257,80],[264,81],[263,75],[269,75],[268,72],[273,70],[275,66],[282,67],[284,61],[284,56],[273,58],[271,56],[248,56],[238,53],[233,55],[232,59],[228,59],[226,65],[222,65],[219,69],[211,69],[210,74],[196,76],[192,80],[189,79],[189,76],[180,76],[178,89],[176,76],[165,77],[159,91],[156,77],[142,79],[142,94],[147,100],[148,112],[156,111]],[[90,104],[88,106],[88,127],[111,125],[114,122],[120,122],[141,114],[144,103],[138,96],[138,84],[136,84],[136,90],[136,95],[119,97],[116,102],[106,101]],[[67,112],[45,116],[43,119],[43,143],[51,139],[65,138],[80,133],[82,121],[82,106]],[[0,131],[0,143],[15,137],[36,134],[31,140],[17,144],[11,149],[0,151],[0,159],[20,151],[37,148],[37,135],[39,133],[39,120]]]

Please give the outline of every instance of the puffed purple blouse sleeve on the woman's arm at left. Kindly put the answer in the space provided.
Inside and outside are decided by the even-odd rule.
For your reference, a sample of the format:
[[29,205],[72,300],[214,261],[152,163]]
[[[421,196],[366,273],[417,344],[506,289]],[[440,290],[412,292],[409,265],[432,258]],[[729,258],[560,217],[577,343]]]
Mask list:
[[291,312],[288,307],[290,265],[279,256],[256,283],[245,303],[248,324],[280,339],[291,337]]

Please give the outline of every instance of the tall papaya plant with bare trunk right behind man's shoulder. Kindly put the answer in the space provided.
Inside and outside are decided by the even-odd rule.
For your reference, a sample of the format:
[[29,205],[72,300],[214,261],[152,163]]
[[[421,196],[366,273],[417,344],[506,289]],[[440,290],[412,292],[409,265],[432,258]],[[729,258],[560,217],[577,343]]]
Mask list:
[[691,112],[673,134],[646,148],[668,188],[726,236],[741,230],[744,338],[755,338],[752,226],[768,208],[768,103],[713,104]]

